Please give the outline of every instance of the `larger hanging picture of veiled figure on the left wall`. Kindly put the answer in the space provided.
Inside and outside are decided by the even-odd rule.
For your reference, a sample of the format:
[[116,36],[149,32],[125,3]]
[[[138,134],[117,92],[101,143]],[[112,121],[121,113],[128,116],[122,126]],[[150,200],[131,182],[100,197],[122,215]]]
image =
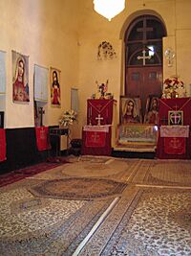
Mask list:
[[14,103],[28,103],[29,58],[12,51],[12,98]]

